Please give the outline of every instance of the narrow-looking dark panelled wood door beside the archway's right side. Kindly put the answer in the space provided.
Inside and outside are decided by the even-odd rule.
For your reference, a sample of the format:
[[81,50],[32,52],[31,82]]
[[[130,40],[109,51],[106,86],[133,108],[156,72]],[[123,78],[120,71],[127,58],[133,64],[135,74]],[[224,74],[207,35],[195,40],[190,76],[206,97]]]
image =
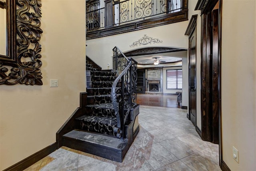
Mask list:
[[196,28],[189,38],[189,119],[196,126]]

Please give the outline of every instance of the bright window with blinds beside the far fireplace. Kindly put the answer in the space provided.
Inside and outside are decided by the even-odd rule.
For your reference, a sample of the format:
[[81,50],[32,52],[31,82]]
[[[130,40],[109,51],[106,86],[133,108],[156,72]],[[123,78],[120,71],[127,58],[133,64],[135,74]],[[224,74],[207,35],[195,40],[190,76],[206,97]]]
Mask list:
[[166,89],[182,89],[182,70],[166,70]]

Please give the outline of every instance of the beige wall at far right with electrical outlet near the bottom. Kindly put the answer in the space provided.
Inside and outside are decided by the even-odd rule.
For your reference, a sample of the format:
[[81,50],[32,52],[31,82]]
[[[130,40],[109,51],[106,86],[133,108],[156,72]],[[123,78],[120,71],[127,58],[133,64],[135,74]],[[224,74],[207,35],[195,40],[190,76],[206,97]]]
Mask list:
[[[256,170],[255,47],[256,1],[223,0],[222,148],[232,171]],[[232,157],[232,146],[239,151],[239,163]]]

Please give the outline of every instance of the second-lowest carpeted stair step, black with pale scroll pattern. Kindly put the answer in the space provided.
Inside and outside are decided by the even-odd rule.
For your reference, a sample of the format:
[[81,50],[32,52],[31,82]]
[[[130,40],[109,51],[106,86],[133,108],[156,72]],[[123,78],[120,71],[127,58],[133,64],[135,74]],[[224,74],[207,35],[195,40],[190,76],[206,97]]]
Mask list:
[[112,116],[116,117],[113,103],[105,103],[100,105],[86,105],[87,114],[93,116]]

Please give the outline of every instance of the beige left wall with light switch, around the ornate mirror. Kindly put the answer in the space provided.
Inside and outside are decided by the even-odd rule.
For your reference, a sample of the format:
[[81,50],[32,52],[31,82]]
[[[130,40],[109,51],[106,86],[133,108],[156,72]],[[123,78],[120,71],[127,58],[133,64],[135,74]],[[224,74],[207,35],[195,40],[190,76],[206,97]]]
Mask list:
[[0,85],[0,170],[56,142],[85,91],[85,0],[41,3],[44,85]]

